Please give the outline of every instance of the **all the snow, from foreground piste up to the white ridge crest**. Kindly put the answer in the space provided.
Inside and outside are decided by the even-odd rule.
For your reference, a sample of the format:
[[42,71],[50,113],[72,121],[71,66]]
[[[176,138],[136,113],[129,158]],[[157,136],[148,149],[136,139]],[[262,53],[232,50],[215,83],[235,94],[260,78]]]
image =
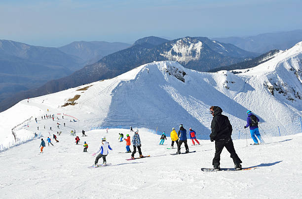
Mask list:
[[[152,62],[113,79],[20,101],[0,113],[0,198],[301,198],[302,42],[241,72],[201,73],[176,61]],[[214,156],[208,141],[211,106],[229,117],[243,167],[258,169],[200,171],[212,167]],[[260,118],[267,144],[250,146],[252,141],[245,140],[250,137],[243,129],[247,110]],[[42,119],[45,114],[54,114],[54,120]],[[169,136],[179,124],[204,139],[190,147],[196,153],[170,155],[176,149],[166,149],[169,137],[158,145],[160,136],[154,133]],[[129,126],[140,129],[143,154],[152,157],[126,161],[130,154],[118,153],[125,151],[118,133],[130,133]],[[112,166],[88,169],[106,128]],[[12,129],[21,141],[34,133],[44,140],[58,131],[62,135],[39,154],[40,140],[12,143]],[[88,153],[70,135],[71,130],[81,135],[82,129]],[[233,167],[227,151],[221,167]]]

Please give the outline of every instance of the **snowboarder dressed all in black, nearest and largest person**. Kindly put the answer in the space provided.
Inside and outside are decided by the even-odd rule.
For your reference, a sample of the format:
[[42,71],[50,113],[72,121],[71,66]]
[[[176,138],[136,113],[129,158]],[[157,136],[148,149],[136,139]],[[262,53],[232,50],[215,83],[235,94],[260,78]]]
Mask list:
[[230,124],[228,117],[221,114],[223,111],[220,107],[212,106],[210,108],[210,114],[213,115],[210,134],[211,142],[215,141],[215,157],[213,159],[213,166],[215,171],[220,170],[220,154],[224,147],[227,148],[227,151],[230,153],[230,157],[233,159],[236,170],[241,170],[242,167],[240,163],[242,161],[238,157],[233,141],[231,139],[232,135],[232,125]]

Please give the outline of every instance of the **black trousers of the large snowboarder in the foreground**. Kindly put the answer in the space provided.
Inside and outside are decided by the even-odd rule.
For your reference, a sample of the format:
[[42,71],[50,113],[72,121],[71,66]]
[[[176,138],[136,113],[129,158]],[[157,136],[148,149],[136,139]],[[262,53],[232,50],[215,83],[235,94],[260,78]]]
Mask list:
[[227,151],[230,153],[230,157],[233,159],[234,164],[236,162],[242,163],[242,161],[240,160],[240,158],[238,157],[238,155],[235,151],[232,139],[226,138],[224,140],[215,141],[215,157],[214,157],[213,163],[212,163],[213,166],[220,165],[220,154],[221,154],[222,150],[224,149],[224,147],[226,147]]

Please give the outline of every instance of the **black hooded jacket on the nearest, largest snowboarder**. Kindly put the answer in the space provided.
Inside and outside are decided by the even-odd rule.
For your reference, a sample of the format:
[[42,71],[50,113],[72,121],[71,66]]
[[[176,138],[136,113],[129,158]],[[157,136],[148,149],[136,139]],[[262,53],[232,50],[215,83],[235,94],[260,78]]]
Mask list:
[[223,111],[220,107],[214,107],[214,117],[211,123],[212,133],[210,138],[213,140],[223,140],[230,138],[232,135],[232,125],[229,123],[228,117],[221,114]]

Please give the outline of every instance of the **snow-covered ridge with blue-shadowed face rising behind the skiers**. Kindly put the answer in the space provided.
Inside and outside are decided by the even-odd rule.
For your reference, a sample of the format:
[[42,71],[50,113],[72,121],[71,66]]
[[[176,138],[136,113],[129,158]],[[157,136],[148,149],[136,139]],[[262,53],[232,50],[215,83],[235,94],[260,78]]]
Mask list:
[[[30,116],[47,114],[49,109],[75,116],[86,129],[135,126],[169,132],[182,123],[195,129],[199,138],[208,139],[208,110],[213,105],[230,118],[235,138],[242,132],[247,110],[260,117],[266,134],[276,135],[278,128],[283,135],[298,133],[301,71],[302,42],[236,75],[197,72],[176,61],[152,62],[113,79],[36,97],[30,103],[23,100],[0,113],[1,134]],[[74,105],[62,107],[70,101]]]

